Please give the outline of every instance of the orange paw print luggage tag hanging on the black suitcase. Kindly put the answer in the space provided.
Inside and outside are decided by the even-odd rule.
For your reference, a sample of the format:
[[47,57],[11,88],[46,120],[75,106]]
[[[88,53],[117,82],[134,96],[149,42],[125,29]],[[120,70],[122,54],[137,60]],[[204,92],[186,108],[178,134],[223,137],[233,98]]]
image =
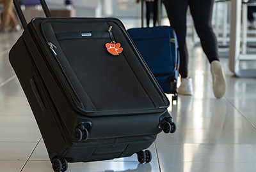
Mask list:
[[122,53],[122,51],[124,50],[122,47],[121,47],[121,44],[120,43],[116,43],[114,41],[114,36],[111,32],[111,29],[112,29],[112,26],[109,27],[108,29],[108,32],[109,32],[109,36],[111,38],[111,42],[110,43],[106,43],[106,48],[108,50],[108,52],[112,55],[119,55],[120,53]]

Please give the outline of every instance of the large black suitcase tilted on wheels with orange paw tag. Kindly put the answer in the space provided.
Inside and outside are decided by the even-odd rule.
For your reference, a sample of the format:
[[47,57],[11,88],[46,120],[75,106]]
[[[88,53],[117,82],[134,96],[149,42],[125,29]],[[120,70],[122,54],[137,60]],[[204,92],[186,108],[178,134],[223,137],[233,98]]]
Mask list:
[[[129,157],[161,131],[174,133],[170,102],[116,18],[33,18],[13,0],[24,32],[9,58],[54,171],[68,162]],[[143,151],[145,150],[145,151]]]

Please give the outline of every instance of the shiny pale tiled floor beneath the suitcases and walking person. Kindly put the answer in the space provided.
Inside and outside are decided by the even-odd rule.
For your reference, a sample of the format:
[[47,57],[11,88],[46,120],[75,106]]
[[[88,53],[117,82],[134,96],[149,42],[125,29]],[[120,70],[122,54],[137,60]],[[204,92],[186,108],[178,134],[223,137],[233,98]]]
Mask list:
[[[138,23],[127,20],[125,25],[128,29]],[[0,172],[48,172],[52,168],[44,142],[8,61],[10,47],[19,35],[20,32],[0,34]],[[236,78],[228,69],[228,59],[221,58],[227,93],[222,99],[215,99],[202,48],[194,47],[189,37],[188,46],[194,95],[179,96],[177,104],[170,106],[178,129],[174,134],[159,134],[150,147],[152,162],[139,164],[133,155],[68,164],[68,171],[255,171],[256,79]]]

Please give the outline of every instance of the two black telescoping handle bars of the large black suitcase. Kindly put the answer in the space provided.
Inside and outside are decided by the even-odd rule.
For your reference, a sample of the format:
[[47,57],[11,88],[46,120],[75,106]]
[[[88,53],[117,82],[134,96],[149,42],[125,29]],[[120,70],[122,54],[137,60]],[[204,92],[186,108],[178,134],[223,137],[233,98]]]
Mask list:
[[[44,10],[44,13],[45,13],[45,16],[46,17],[51,17],[51,13],[50,13],[50,10],[45,2],[45,0],[40,0],[40,3],[42,5],[42,8]],[[26,21],[26,18],[24,17],[24,13],[22,12],[21,8],[20,8],[20,3],[18,0],[13,0],[13,4],[15,6],[15,9],[17,11],[17,14],[20,18],[20,22],[22,24],[22,27],[25,29],[28,25],[27,21]]]

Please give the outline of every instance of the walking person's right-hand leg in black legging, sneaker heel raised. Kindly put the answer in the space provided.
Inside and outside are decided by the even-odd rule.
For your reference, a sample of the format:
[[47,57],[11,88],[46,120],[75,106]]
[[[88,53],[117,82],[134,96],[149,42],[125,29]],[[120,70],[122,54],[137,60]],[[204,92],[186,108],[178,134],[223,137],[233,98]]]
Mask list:
[[212,31],[212,7],[214,0],[189,0],[189,8],[202,48],[211,63],[214,96],[221,98],[226,91],[223,68],[219,61],[218,42]]

